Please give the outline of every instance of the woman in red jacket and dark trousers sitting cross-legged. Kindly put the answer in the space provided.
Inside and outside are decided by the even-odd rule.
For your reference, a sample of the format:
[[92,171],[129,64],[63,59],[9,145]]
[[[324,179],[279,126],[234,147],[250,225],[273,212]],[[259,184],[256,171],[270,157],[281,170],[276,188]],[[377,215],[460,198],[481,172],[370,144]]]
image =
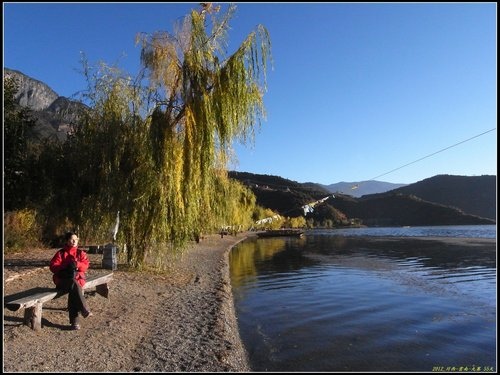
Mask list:
[[66,245],[57,251],[50,261],[50,270],[54,273],[52,280],[56,288],[68,293],[68,311],[71,329],[80,329],[78,313],[84,318],[92,313],[87,307],[82,287],[85,285],[85,272],[89,268],[87,253],[78,248],[78,236],[68,232],[64,236]]

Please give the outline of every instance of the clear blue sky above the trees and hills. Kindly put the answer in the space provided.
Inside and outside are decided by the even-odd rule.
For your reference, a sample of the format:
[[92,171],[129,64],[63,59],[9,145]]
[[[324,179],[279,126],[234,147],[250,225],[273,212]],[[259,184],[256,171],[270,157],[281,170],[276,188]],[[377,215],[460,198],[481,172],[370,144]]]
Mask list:
[[[237,4],[229,51],[262,24],[274,64],[267,118],[230,169],[322,184],[496,175],[496,3]],[[3,3],[4,67],[71,96],[80,51],[135,74],[136,33],[172,32],[192,8]]]

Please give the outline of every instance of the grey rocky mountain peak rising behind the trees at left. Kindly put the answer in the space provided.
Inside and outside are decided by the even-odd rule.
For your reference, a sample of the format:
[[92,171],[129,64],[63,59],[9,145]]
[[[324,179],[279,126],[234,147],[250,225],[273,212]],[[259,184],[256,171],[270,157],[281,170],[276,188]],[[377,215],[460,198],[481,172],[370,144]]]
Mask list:
[[4,68],[4,77],[14,78],[19,86],[14,95],[18,105],[31,109],[36,120],[31,137],[64,141],[71,125],[85,105],[59,96],[45,83],[17,70]]

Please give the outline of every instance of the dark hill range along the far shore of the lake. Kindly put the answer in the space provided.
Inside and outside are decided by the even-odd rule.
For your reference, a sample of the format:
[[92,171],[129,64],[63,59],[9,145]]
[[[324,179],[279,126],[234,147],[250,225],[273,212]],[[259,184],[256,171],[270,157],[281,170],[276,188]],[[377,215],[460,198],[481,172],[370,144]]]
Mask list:
[[[229,176],[249,186],[257,197],[257,204],[271,208],[284,216],[303,215],[303,205],[324,198],[331,194],[322,185],[301,184],[278,176],[257,175],[247,172],[229,172]],[[424,180],[429,191],[426,198],[413,194],[411,187],[421,188],[422,184],[410,184],[396,190],[362,197],[334,193],[335,198],[318,205],[306,219],[313,219],[315,225],[344,226],[362,224],[367,226],[405,226],[405,225],[478,225],[495,224],[496,218],[496,177],[442,178],[436,176]],[[486,177],[486,178],[485,178]],[[490,177],[490,178],[488,178]],[[493,177],[493,178],[491,178]],[[422,182],[424,182],[422,181]],[[437,182],[437,184],[436,184]],[[454,186],[449,186],[450,184]],[[434,185],[435,198],[430,186]],[[471,186],[475,186],[472,188]],[[443,200],[437,192],[451,192],[457,188],[453,205],[436,200]],[[408,194],[398,191],[407,189]],[[471,193],[475,189],[476,193]],[[477,193],[483,191],[484,194]],[[462,191],[460,194],[459,191]],[[446,195],[446,194],[445,194]],[[474,196],[474,198],[473,198]],[[460,197],[460,198],[459,198]],[[485,217],[486,211],[469,212],[459,207],[494,207],[495,215]],[[328,224],[329,223],[329,224]]]

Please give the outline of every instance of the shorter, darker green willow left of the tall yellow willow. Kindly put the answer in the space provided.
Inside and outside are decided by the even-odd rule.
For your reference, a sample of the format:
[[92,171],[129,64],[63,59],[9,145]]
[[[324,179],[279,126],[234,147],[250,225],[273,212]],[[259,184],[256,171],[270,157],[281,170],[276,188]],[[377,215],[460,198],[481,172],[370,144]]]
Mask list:
[[141,116],[147,93],[116,67],[83,63],[89,109],[81,114],[64,154],[81,202],[68,217],[84,239],[110,241],[110,228],[120,212],[120,237],[129,263],[137,266],[154,240],[155,227],[148,221],[161,203],[152,172],[148,119]]

